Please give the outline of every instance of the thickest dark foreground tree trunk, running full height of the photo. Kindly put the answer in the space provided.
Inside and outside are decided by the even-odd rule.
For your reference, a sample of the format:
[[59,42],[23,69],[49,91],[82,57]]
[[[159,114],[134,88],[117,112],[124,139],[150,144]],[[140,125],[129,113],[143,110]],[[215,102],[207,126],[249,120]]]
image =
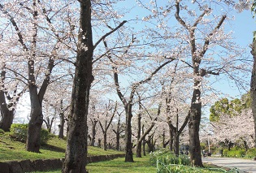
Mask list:
[[85,173],[87,162],[87,115],[89,90],[93,82],[93,35],[91,1],[80,0],[80,29],[76,70],[72,89],[71,114],[68,119],[67,149],[63,172]]

